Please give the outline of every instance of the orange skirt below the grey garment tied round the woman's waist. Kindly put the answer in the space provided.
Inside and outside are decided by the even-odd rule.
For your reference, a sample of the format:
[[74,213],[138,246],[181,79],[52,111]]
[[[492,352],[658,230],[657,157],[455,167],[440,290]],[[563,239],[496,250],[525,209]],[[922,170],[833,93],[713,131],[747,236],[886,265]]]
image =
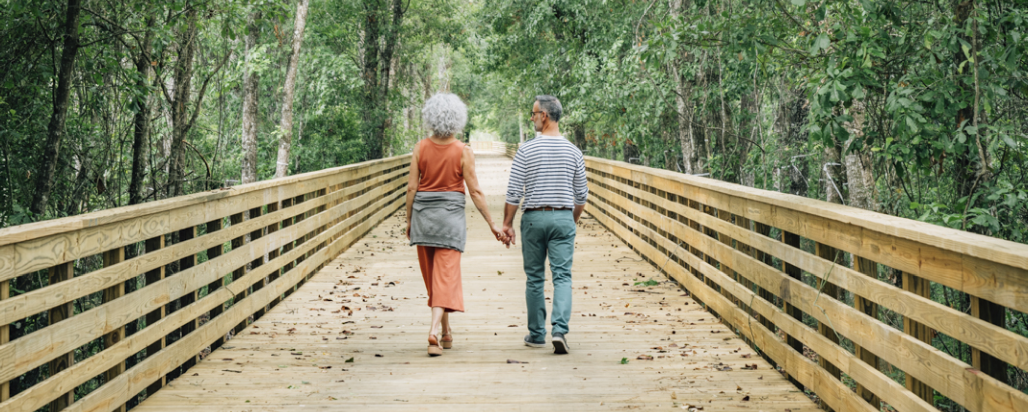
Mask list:
[[429,307],[441,306],[447,312],[464,311],[464,287],[461,286],[461,252],[452,249],[417,247]]

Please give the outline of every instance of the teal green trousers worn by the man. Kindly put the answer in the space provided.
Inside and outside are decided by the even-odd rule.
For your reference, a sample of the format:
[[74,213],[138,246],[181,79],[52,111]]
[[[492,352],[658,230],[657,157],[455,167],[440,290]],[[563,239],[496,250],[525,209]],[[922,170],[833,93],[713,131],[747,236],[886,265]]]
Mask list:
[[536,211],[521,216],[521,257],[524,260],[524,300],[528,333],[546,337],[546,259],[553,273],[551,333],[567,333],[572,317],[572,261],[575,255],[575,218],[572,211]]

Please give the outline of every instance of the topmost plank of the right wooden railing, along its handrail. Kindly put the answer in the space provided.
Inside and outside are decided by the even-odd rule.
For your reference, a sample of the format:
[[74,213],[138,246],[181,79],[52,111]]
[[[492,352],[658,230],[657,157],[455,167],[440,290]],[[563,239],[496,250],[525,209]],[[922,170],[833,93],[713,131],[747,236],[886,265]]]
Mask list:
[[[733,197],[733,192],[730,189],[737,185],[722,182],[723,184],[718,187],[723,186],[724,190],[710,191],[715,190],[715,188],[708,190],[693,184],[695,179],[703,180],[702,178],[676,177],[677,174],[667,171],[611,160],[590,158],[587,161],[587,167],[633,182],[648,184],[667,192],[683,193],[689,198],[697,199],[701,203],[715,209],[728,210],[733,214],[769,224],[808,239],[929,278],[931,282],[968,292],[1007,307],[1028,311],[1028,269],[1025,269],[1025,266],[1028,266],[1028,259],[1024,258],[1024,256],[1028,256],[1028,246],[1025,245],[945,229],[952,232],[949,234],[952,234],[953,238],[971,235],[978,239],[976,245],[991,245],[998,241],[1005,245],[1000,249],[1006,248],[1005,250],[1015,251],[1016,254],[1020,254],[1020,257],[1015,257],[1015,254],[1011,255],[1009,259],[997,259],[993,257],[992,253],[961,255],[960,253],[952,253],[953,251],[948,251],[930,241],[920,241],[918,239],[921,237],[914,236],[915,233],[910,233],[910,236],[905,237],[894,235],[888,230],[880,231],[882,225],[877,222],[887,221],[897,226],[909,223],[916,227],[927,226],[925,229],[944,229],[933,225],[905,219],[894,221],[886,215],[752,188],[745,189],[747,189],[747,193],[764,193],[772,197],[782,195],[795,199],[796,202],[782,203],[779,201],[776,203],[771,198],[750,195],[751,193],[746,194],[746,197]],[[805,202],[812,202],[811,204],[818,205],[818,208],[823,207],[824,210],[806,208],[804,207]],[[869,219],[874,224],[861,226],[867,221],[854,223],[851,219],[833,219],[828,210],[838,208],[852,209],[860,214],[871,214]],[[923,237],[932,239],[928,235]],[[944,242],[949,244],[949,239],[947,238]],[[966,266],[967,263],[974,265]]]

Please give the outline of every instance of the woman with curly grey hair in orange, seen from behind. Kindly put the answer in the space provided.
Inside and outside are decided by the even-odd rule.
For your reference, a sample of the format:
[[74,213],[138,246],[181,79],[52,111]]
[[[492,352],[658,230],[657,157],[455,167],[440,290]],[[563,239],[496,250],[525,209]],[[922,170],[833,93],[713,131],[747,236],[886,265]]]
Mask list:
[[425,102],[421,119],[432,136],[414,145],[407,179],[407,238],[417,247],[417,262],[429,292],[432,326],[429,355],[453,345],[449,312],[464,311],[461,254],[467,242],[465,184],[497,239],[507,236],[492,223],[485,194],[475,176],[475,153],[455,136],[468,121],[461,98],[437,93]]

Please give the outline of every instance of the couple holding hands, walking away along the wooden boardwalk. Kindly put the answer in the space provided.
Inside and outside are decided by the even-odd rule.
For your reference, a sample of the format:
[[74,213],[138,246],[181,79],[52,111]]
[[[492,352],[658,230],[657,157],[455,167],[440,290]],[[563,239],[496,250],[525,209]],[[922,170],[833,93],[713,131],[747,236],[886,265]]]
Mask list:
[[546,346],[546,259],[553,273],[550,323],[555,353],[567,353],[567,321],[572,314],[572,257],[576,224],[585,210],[585,159],[560,136],[560,102],[536,97],[530,119],[540,136],[521,145],[514,156],[503,226],[489,214],[475,175],[475,153],[455,136],[468,121],[468,109],[454,95],[438,93],[425,103],[421,117],[432,136],[414,146],[407,181],[407,238],[417,247],[417,261],[432,308],[429,355],[453,346],[449,313],[464,311],[461,254],[467,242],[465,185],[475,208],[495,238],[509,249],[517,234],[514,215],[520,207],[521,256],[524,260],[528,334],[524,344]]

